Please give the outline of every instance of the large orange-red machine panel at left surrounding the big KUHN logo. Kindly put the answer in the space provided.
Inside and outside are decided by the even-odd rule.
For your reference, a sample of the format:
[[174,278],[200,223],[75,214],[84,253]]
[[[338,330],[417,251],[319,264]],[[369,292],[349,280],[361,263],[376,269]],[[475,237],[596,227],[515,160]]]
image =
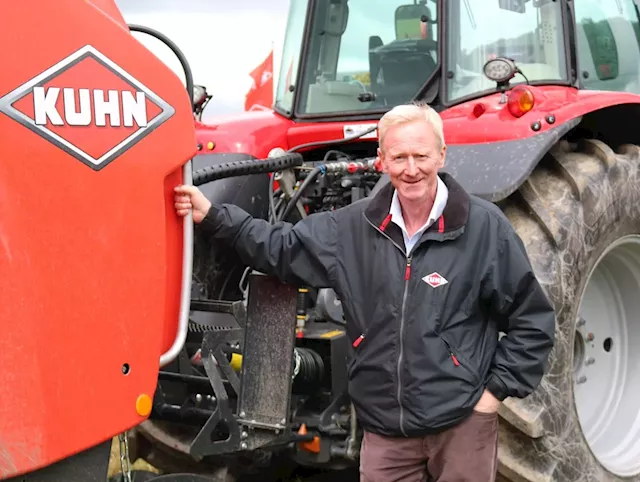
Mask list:
[[[140,423],[136,400],[153,396],[176,331],[172,189],[196,153],[194,123],[179,78],[116,14],[111,0],[40,0],[0,16],[0,479]],[[90,109],[65,111],[65,88]],[[117,108],[98,126],[94,95],[109,90]]]

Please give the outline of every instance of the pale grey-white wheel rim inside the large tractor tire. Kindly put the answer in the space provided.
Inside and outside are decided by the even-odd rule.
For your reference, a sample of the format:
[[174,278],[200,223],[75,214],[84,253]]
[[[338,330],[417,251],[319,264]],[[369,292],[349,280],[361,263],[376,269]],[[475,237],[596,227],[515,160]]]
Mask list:
[[610,472],[640,474],[640,236],[602,254],[580,301],[574,396],[591,451]]

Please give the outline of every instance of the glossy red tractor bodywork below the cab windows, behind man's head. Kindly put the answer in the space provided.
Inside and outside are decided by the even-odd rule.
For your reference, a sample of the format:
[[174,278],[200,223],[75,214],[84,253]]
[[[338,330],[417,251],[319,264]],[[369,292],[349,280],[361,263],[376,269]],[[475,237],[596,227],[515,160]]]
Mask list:
[[[625,92],[593,92],[562,86],[529,86],[534,94],[533,109],[516,118],[509,113],[500,94],[491,94],[448,108],[440,113],[447,144],[473,144],[523,139],[567,122],[575,117],[608,106],[640,103],[640,96]],[[474,114],[481,113],[480,116]],[[554,122],[546,117],[553,115]],[[541,128],[531,125],[540,121]],[[245,112],[220,117],[210,124],[198,126],[198,139],[203,153],[245,152],[264,157],[273,147],[291,147],[308,142],[328,141],[345,137],[344,126],[371,125],[375,120],[353,122],[299,122],[275,112]],[[376,141],[376,138],[369,139]],[[213,149],[206,145],[213,141]]]

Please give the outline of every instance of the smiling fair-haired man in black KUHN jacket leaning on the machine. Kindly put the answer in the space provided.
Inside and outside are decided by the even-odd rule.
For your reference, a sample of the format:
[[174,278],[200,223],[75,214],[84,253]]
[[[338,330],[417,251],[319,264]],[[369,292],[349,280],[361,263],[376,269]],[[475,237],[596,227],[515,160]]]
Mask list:
[[181,186],[177,213],[255,269],[340,296],[362,481],[493,481],[498,408],[540,382],[554,311],[501,211],[438,174],[439,115],[395,107],[378,132],[391,182],[362,202],[270,225]]

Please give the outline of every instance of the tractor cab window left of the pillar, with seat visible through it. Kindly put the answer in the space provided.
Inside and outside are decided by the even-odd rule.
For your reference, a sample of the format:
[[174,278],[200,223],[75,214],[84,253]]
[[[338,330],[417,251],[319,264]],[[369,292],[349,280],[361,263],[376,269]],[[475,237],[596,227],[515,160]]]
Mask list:
[[293,110],[294,96],[298,114],[388,108],[411,101],[435,71],[435,0],[313,4],[305,68],[296,85],[309,1],[291,2],[275,102],[285,112]]

